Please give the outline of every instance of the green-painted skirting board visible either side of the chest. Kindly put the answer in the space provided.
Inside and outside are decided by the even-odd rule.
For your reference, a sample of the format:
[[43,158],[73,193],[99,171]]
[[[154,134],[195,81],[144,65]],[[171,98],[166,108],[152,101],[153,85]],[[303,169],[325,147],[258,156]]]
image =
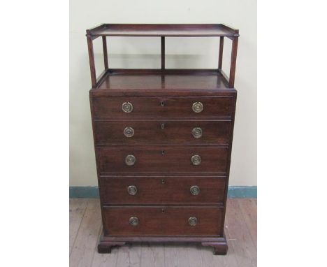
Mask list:
[[[229,198],[252,198],[256,199],[256,186],[255,187],[242,187],[234,186],[228,187]],[[69,198],[71,199],[98,199],[98,187],[69,187]]]

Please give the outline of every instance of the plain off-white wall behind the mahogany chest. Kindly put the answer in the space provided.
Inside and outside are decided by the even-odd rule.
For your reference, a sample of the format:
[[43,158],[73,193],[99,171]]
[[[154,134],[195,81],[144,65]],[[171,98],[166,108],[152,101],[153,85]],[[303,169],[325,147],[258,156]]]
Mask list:
[[[256,0],[70,1],[70,185],[97,185],[85,30],[101,23],[224,23],[240,29],[230,185],[256,185]],[[226,38],[225,38],[226,39]],[[109,67],[159,68],[159,38],[108,38]],[[224,45],[229,67],[231,41]],[[101,38],[94,41],[103,70]],[[167,68],[217,68],[218,38],[166,38]]]

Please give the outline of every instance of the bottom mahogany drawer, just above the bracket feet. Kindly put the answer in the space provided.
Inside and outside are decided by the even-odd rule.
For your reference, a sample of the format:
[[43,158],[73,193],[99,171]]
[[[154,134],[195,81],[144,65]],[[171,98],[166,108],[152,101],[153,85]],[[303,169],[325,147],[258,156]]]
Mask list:
[[221,236],[223,208],[116,206],[103,217],[106,236]]

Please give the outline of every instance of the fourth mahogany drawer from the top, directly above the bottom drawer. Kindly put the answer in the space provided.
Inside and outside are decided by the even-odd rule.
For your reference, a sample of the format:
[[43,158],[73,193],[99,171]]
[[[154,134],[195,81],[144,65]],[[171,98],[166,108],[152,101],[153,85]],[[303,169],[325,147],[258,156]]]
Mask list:
[[100,178],[103,204],[224,203],[226,178],[110,176]]

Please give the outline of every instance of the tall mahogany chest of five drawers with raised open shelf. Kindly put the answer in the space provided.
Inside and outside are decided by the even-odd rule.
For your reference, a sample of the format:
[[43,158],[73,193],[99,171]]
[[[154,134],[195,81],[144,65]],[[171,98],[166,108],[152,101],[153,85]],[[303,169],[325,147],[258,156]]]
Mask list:
[[[92,41],[99,36],[105,71],[97,79]],[[107,36],[161,38],[161,68],[108,68]],[[166,69],[167,36],[219,36],[218,68]],[[232,40],[229,78],[221,71],[224,38]],[[98,251],[182,241],[226,254],[238,30],[223,24],[103,24],[87,30],[87,41],[103,219]]]

